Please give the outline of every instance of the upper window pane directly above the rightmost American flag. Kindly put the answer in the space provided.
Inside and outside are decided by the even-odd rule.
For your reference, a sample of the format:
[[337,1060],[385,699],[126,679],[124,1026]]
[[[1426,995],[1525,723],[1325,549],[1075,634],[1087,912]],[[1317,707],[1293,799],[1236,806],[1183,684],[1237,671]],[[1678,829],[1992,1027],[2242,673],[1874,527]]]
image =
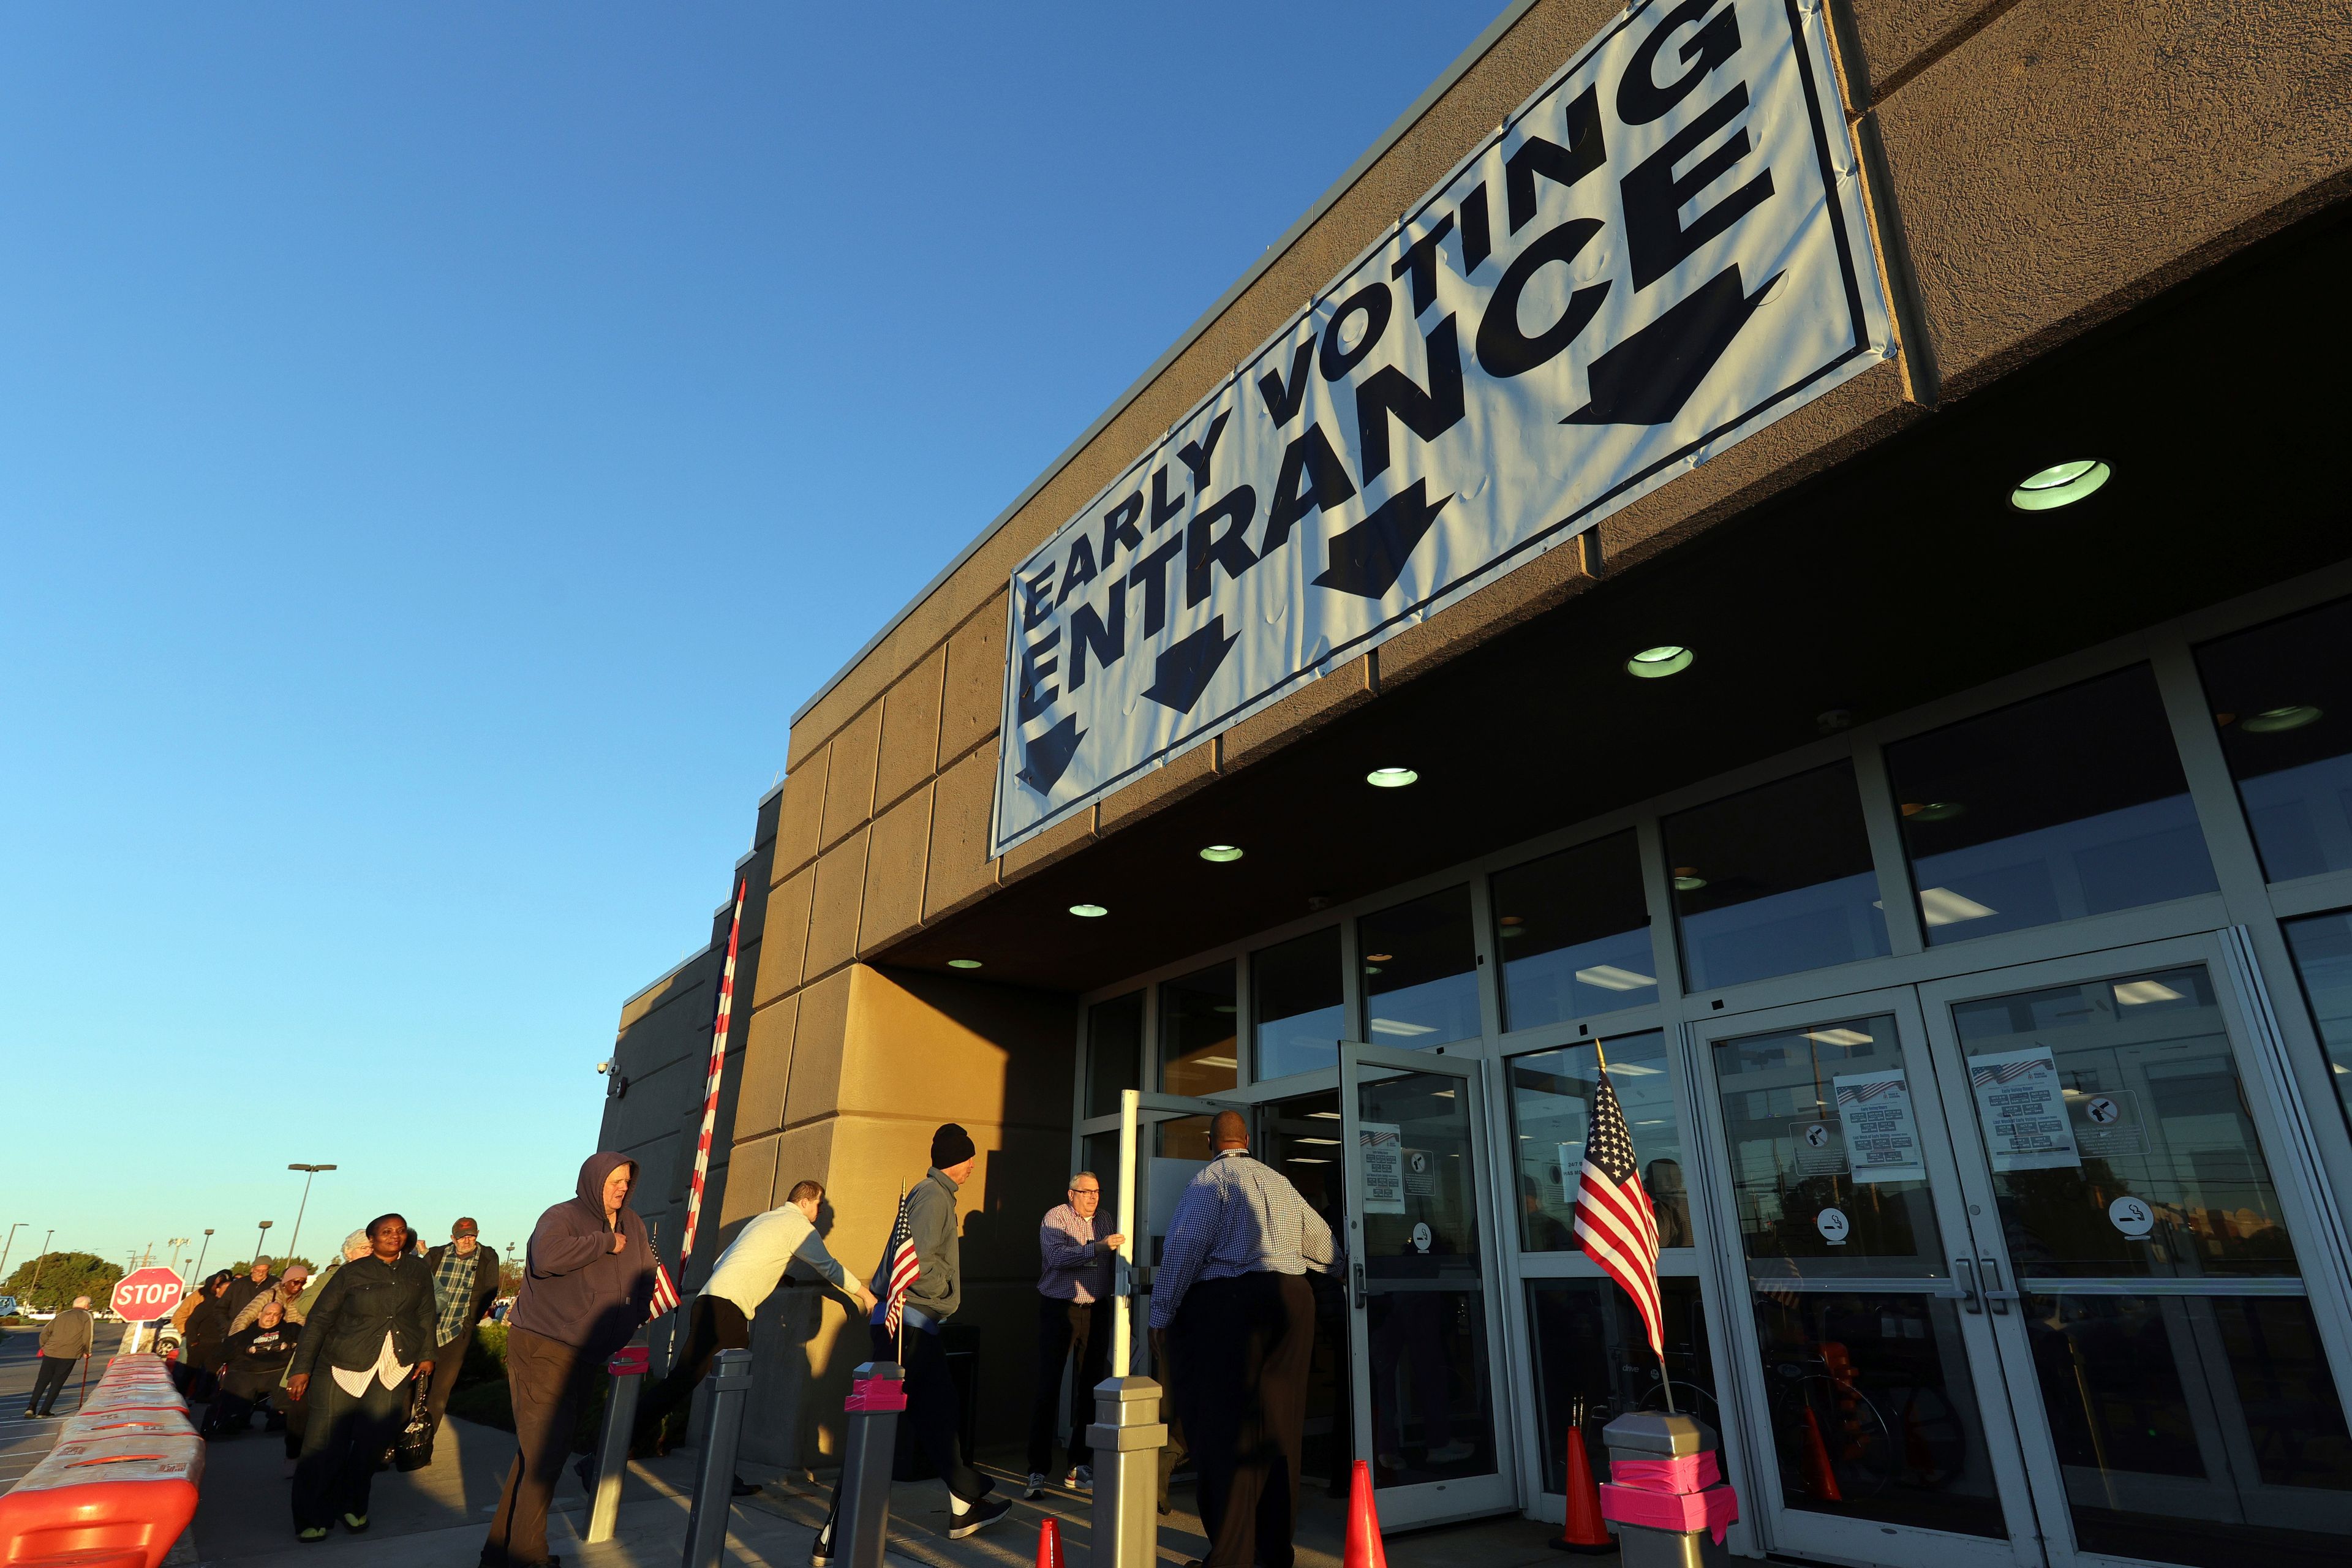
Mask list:
[[1658,999],[1630,832],[1494,875],[1503,1027],[1534,1030]]

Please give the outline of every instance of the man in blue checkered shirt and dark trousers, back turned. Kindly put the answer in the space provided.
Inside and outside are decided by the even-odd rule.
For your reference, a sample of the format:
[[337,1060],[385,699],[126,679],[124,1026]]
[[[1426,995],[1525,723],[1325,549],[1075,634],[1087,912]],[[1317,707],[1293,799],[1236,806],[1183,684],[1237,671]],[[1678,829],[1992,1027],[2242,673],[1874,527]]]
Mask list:
[[1200,1472],[1207,1568],[1291,1568],[1298,1448],[1315,1354],[1308,1269],[1331,1269],[1331,1227],[1249,1157],[1249,1121],[1218,1112],[1216,1159],[1192,1178],[1152,1269],[1152,1328]]

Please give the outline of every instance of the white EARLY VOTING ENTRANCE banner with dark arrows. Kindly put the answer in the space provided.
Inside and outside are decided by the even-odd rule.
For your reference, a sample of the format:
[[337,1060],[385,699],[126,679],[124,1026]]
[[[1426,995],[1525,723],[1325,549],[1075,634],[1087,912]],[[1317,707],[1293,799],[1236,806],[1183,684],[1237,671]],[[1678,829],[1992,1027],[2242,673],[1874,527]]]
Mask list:
[[1628,7],[1014,574],[993,853],[1891,353],[1818,0]]

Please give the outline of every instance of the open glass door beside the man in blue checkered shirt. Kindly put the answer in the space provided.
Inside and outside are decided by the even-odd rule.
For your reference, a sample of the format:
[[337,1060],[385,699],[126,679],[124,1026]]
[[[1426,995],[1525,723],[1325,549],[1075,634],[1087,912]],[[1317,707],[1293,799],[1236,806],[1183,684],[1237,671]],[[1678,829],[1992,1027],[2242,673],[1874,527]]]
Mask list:
[[1350,1406],[1381,1523],[1512,1509],[1479,1063],[1343,1044],[1338,1110]]

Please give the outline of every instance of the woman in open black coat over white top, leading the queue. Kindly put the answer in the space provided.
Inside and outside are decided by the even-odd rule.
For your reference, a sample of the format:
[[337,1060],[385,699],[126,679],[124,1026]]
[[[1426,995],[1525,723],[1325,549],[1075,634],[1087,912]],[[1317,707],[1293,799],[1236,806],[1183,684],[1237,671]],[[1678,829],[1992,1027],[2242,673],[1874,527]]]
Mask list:
[[433,1378],[433,1269],[409,1237],[397,1213],[372,1220],[367,1255],[339,1267],[303,1319],[287,1373],[287,1392],[306,1406],[294,1462],[299,1540],[327,1540],[336,1519],[353,1535],[367,1528],[376,1460],[409,1415],[409,1385]]

